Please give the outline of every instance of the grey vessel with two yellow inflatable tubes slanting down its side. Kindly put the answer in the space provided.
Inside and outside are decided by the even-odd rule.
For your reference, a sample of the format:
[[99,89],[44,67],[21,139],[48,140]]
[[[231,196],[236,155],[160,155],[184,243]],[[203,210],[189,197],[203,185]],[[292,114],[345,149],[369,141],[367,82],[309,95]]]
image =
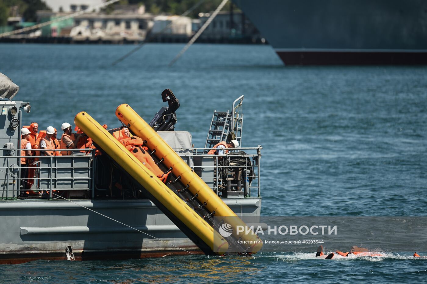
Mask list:
[[[67,149],[70,152],[62,151],[62,155],[54,156],[35,152],[36,156],[31,157],[37,158],[35,162],[21,164],[24,152],[20,150],[21,128],[25,127],[22,121],[30,111],[30,104],[14,100],[19,87],[3,75],[0,90],[1,264],[37,259],[126,259],[188,253],[222,255],[224,247],[232,247],[236,242],[233,244],[232,236],[222,238],[219,235],[219,245],[215,245],[215,240],[214,245],[210,244],[212,236],[218,235],[218,228],[224,225],[212,217],[230,209],[238,217],[260,216],[262,148],[259,145],[241,147],[243,96],[233,104],[230,102],[231,110],[214,110],[211,125],[206,126],[205,148],[194,148],[189,132],[174,131],[178,99],[170,90],[162,93],[168,106],[161,107],[150,121],[144,130],[150,134],[143,139],[146,151],[158,167],[171,173],[164,184],[113,137],[125,126],[131,134],[143,135],[138,132],[140,128],[135,119],[124,122],[125,110],[130,110],[127,104],[116,110],[123,125],[108,130],[84,122],[89,117],[85,112],[76,115],[76,125],[93,139],[94,147]],[[135,114],[135,117],[139,116]],[[153,139],[158,140],[150,144]],[[240,147],[230,148],[228,154],[208,154],[214,145],[230,139],[237,140]],[[173,149],[172,153],[162,152],[168,149]],[[168,164],[174,156],[178,158]],[[178,164],[180,172],[175,171]],[[34,174],[22,178],[24,168],[32,168]],[[145,177],[136,176],[132,172],[134,168],[137,175]],[[186,180],[189,175],[191,180]],[[26,183],[31,187],[25,187]],[[196,184],[199,187],[194,193]],[[152,189],[167,198],[162,201],[161,194]],[[211,209],[214,203],[216,207]],[[203,230],[208,232],[205,237],[201,235]],[[259,247],[235,249],[250,253]]]

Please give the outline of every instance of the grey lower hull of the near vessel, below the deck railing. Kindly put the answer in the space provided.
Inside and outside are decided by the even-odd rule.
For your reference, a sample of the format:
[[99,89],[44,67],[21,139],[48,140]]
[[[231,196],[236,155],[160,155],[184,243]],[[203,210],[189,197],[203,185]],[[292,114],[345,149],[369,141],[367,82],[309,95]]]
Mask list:
[[[239,216],[260,215],[261,198],[223,200]],[[67,246],[75,260],[202,254],[149,200],[5,201],[0,212],[0,264],[67,260]]]

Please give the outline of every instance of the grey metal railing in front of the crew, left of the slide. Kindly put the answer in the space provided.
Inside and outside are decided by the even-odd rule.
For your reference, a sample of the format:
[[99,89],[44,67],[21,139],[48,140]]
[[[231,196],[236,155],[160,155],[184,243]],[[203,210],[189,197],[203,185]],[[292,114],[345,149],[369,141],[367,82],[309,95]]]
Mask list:
[[[49,150],[62,154],[73,152],[64,156],[21,156],[23,150],[26,149],[3,149],[3,156],[0,156],[3,163],[0,165],[0,200],[36,194],[40,194],[39,200],[56,199],[59,192],[68,192],[69,195],[70,191],[94,190],[92,156],[95,149]],[[30,158],[30,163],[20,164],[22,157]],[[24,170],[27,171],[26,177],[21,176]]]

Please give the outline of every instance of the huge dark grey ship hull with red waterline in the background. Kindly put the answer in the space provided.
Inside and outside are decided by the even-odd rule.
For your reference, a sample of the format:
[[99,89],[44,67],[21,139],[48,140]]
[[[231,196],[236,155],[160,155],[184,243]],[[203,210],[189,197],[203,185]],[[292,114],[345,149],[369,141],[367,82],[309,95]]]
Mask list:
[[427,1],[233,2],[284,64],[427,64]]

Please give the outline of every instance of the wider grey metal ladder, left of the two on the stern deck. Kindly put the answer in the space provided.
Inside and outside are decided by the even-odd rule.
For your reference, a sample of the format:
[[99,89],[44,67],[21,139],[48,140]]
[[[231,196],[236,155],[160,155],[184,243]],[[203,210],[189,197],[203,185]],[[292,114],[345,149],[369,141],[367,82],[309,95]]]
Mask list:
[[[205,148],[213,148],[221,141],[227,140],[228,132],[231,127],[231,116],[229,111],[213,111],[211,127],[206,138]],[[208,153],[209,150],[205,150]]]

